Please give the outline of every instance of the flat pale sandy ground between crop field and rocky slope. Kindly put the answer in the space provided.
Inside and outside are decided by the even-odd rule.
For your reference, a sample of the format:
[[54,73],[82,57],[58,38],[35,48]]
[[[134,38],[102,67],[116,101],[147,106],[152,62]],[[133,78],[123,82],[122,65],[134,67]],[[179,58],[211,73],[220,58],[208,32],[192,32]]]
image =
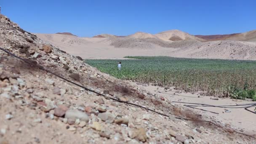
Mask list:
[[[137,85],[134,82],[129,82],[131,85]],[[178,101],[178,102],[189,102],[189,103],[200,103],[200,104],[210,104],[210,105],[236,105],[236,104],[251,104],[255,103],[253,101],[243,101],[243,100],[235,100],[235,99],[216,99],[216,97],[212,96],[200,96],[199,94],[195,93],[185,93],[184,91],[176,91],[173,88],[165,90],[163,87],[159,86],[145,86],[145,85],[138,85],[140,88],[146,89],[150,93],[157,94],[163,96],[164,98],[171,100],[171,101]],[[160,93],[161,92],[161,93]],[[165,94],[169,93],[169,94]],[[174,95],[175,93],[175,95]],[[185,105],[181,103],[175,103],[178,105]],[[194,104],[190,104],[194,105]],[[208,115],[212,117],[212,119],[216,119],[221,121],[221,123],[229,124],[233,128],[235,128],[239,132],[244,132],[247,134],[255,134],[256,133],[256,114],[246,111],[243,108],[239,109],[231,109],[231,108],[218,108],[218,107],[198,107],[201,109],[205,109],[211,112],[217,112],[217,114],[213,114],[211,112],[204,112],[201,110],[193,109],[196,112],[202,113],[203,115]],[[225,109],[231,112],[225,112]],[[254,111],[254,107],[250,108],[250,110]]]

